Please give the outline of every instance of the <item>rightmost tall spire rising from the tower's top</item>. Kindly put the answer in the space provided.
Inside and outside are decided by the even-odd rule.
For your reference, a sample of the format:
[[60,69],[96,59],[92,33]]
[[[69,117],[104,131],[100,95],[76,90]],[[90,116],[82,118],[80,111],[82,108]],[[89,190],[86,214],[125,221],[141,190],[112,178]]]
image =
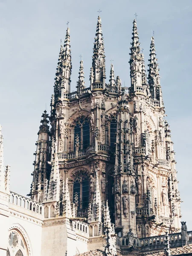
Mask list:
[[148,83],[151,92],[151,98],[154,100],[160,101],[160,107],[163,107],[163,97],[162,90],[160,86],[160,75],[159,68],[157,64],[157,58],[155,53],[154,37],[151,37],[151,46],[150,46],[150,63],[148,64]]

